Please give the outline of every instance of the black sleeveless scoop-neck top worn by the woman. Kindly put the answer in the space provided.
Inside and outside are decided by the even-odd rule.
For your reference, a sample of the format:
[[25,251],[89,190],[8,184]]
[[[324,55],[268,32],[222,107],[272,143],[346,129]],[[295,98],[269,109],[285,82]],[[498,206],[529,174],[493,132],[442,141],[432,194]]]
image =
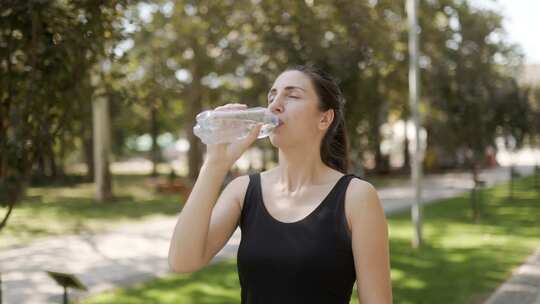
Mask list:
[[348,304],[356,280],[343,175],[317,208],[285,223],[266,209],[260,173],[249,175],[237,267],[242,304]]

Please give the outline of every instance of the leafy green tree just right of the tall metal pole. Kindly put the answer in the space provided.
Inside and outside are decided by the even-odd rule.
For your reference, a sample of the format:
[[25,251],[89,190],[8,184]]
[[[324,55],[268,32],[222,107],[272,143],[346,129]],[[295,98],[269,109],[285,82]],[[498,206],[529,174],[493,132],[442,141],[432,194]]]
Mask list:
[[[519,64],[520,56],[505,42],[502,17],[496,12],[457,1],[426,7],[435,11],[435,22],[423,23],[423,32],[431,38],[423,46],[432,66],[426,73],[430,81],[424,80],[428,146],[461,155],[476,186],[486,149],[496,146],[496,137],[522,142],[529,130],[518,114],[528,111],[527,103],[507,71]],[[475,219],[477,210],[473,206]]]

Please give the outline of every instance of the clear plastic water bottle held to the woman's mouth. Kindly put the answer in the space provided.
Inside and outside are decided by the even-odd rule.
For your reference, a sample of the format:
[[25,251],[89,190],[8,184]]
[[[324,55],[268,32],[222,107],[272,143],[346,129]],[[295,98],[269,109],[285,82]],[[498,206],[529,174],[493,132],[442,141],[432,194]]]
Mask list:
[[264,107],[207,110],[197,114],[196,120],[193,133],[207,145],[243,139],[258,123],[263,123],[263,126],[257,138],[264,138],[279,125],[278,117]]

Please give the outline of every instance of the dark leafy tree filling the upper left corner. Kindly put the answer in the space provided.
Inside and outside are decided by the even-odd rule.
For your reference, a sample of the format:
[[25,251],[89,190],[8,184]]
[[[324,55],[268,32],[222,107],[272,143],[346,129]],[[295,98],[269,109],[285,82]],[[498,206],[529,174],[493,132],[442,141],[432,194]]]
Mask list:
[[[84,80],[117,37],[126,1],[0,4],[0,204],[7,223],[34,165],[56,167],[54,145],[84,102]],[[44,167],[44,166],[41,166]]]

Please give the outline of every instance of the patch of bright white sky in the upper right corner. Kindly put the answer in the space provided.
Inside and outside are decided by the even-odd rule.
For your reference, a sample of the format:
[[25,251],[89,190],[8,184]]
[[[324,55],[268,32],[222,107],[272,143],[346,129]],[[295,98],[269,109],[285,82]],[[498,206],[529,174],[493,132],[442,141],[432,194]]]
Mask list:
[[471,0],[471,3],[502,13],[508,39],[521,46],[525,62],[540,64],[540,0]]

